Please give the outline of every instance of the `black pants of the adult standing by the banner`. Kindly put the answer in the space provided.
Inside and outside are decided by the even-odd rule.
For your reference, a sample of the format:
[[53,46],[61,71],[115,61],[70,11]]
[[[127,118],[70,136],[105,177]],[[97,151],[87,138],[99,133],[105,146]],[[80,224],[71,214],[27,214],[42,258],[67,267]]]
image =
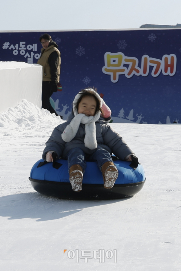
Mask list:
[[42,108],[47,109],[50,113],[55,113],[57,116],[56,111],[50,104],[50,97],[52,96],[53,92],[50,89],[51,83],[49,81],[43,81],[42,83]]

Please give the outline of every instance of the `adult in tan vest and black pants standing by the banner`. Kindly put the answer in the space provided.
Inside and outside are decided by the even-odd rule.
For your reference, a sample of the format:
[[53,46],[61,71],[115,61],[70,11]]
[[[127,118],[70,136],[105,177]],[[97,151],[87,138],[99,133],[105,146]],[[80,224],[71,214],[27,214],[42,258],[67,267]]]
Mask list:
[[59,116],[50,104],[50,97],[53,92],[57,92],[57,83],[60,81],[60,51],[49,34],[40,36],[40,42],[43,48],[37,64],[43,66],[42,108]]

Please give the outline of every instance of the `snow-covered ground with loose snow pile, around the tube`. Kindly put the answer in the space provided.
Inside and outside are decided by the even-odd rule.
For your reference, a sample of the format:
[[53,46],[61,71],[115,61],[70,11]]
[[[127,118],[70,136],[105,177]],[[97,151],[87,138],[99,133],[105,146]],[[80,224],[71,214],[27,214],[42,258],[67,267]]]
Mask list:
[[[28,179],[61,122],[26,100],[0,114],[0,270],[181,270],[181,125],[111,123],[143,165],[145,185],[132,198],[73,201],[40,195]],[[117,262],[100,263],[95,250],[116,250]]]

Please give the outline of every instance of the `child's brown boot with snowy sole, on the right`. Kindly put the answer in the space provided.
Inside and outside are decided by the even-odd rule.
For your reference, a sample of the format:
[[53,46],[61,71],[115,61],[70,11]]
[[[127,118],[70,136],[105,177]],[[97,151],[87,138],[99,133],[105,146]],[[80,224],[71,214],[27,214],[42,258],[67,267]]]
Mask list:
[[104,188],[112,188],[118,177],[118,170],[113,162],[103,164],[101,171],[103,173]]

